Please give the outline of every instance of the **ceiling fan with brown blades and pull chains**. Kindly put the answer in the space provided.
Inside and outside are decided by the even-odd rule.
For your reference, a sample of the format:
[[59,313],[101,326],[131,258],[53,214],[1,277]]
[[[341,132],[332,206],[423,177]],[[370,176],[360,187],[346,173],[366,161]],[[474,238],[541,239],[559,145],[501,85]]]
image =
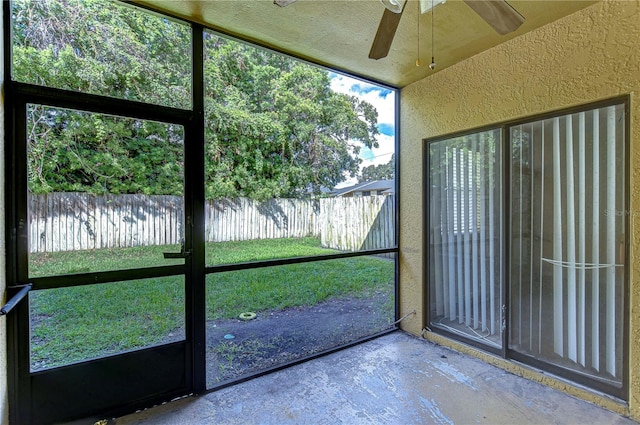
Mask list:
[[[273,0],[275,4],[281,7],[288,6],[296,1]],[[443,0],[437,0],[435,4],[443,2]],[[524,17],[505,0],[464,0],[464,2],[498,34],[504,35],[515,31],[524,22]],[[369,51],[369,58],[371,59],[382,59],[389,54],[393,37],[396,34],[396,29],[406,6],[406,0],[382,0],[382,3],[385,9]]]

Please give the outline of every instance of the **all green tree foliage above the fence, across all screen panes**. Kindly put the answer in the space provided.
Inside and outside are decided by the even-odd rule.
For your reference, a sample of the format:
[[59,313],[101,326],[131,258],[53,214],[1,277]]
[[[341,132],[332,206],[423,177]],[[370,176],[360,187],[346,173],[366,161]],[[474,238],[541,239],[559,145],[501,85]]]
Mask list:
[[[115,2],[13,2],[16,80],[189,109],[187,25]],[[331,91],[328,73],[205,33],[209,199],[304,197],[358,172],[377,111]],[[182,193],[175,126],[29,109],[33,192]]]

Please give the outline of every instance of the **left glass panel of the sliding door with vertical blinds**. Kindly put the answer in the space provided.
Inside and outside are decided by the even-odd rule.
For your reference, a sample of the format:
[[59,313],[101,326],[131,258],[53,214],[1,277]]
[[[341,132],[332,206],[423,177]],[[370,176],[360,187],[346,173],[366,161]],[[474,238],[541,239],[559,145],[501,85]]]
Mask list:
[[429,144],[431,325],[502,346],[501,131]]

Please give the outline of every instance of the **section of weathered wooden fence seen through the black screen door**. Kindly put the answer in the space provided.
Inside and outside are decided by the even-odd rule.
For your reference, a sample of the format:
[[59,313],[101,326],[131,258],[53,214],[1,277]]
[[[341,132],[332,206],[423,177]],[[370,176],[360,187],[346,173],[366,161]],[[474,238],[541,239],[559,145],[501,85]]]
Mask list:
[[49,193],[29,195],[30,252],[180,243],[179,196]]

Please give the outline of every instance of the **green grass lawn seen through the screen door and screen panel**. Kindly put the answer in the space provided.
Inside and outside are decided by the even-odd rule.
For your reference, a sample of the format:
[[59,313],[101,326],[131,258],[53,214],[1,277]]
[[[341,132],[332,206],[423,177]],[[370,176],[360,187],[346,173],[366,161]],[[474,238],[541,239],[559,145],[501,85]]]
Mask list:
[[[163,265],[170,247],[32,254],[30,273]],[[177,247],[173,247],[177,250]],[[207,246],[207,263],[332,253],[315,238],[223,242]],[[393,262],[353,257],[207,276],[207,319],[313,305],[341,296],[392,291]],[[31,364],[40,369],[184,338],[182,276],[36,291],[30,295]]]

